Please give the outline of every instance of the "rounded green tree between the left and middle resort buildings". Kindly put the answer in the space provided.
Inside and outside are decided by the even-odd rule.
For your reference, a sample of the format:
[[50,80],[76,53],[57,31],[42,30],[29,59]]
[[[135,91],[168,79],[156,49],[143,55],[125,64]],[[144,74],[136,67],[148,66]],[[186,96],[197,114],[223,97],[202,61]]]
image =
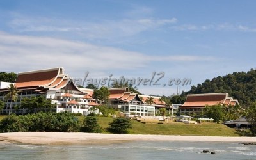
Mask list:
[[100,102],[100,104],[105,104],[106,102],[108,102],[109,99],[109,95],[110,92],[108,90],[108,88],[106,88],[105,86],[100,87],[99,90],[95,90],[93,92],[93,99],[97,99],[97,101]]

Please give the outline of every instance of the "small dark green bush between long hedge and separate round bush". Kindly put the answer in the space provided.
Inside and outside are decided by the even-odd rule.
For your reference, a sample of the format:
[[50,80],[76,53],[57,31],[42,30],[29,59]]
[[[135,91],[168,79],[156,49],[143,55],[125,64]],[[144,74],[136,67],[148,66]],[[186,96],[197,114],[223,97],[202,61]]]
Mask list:
[[84,131],[94,133],[101,132],[98,120],[95,116],[86,116],[84,119]]

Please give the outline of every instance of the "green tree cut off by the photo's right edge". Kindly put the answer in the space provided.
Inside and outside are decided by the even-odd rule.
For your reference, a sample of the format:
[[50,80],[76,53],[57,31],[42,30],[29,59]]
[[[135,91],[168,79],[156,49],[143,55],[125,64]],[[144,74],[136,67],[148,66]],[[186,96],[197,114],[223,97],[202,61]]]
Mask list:
[[252,124],[252,128],[250,131],[252,134],[256,134],[256,103],[252,104],[248,109],[246,113],[246,119],[250,124]]

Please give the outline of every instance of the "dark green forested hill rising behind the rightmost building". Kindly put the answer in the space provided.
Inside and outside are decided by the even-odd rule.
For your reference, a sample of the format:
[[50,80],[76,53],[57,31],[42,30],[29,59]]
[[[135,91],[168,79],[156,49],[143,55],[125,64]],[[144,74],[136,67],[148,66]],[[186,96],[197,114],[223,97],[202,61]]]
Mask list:
[[256,102],[256,70],[246,72],[233,72],[226,76],[218,76],[205,80],[197,86],[191,86],[191,90],[182,95],[199,93],[228,93],[233,99],[238,99],[239,104],[247,108]]

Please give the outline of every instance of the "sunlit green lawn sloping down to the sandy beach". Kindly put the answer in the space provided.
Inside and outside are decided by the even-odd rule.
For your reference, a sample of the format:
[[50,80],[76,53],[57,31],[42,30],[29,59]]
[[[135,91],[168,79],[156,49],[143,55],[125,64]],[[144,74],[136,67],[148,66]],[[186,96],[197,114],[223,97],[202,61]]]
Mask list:
[[[2,120],[6,116],[0,116]],[[78,117],[83,122],[84,117]],[[113,118],[97,117],[103,133],[109,133],[106,128],[109,122],[113,122]],[[159,135],[196,135],[196,136],[239,136],[236,129],[231,129],[223,124],[204,123],[204,124],[183,124],[181,122],[173,122],[168,124],[143,124],[136,120],[131,120],[132,129],[129,134],[159,134]]]

